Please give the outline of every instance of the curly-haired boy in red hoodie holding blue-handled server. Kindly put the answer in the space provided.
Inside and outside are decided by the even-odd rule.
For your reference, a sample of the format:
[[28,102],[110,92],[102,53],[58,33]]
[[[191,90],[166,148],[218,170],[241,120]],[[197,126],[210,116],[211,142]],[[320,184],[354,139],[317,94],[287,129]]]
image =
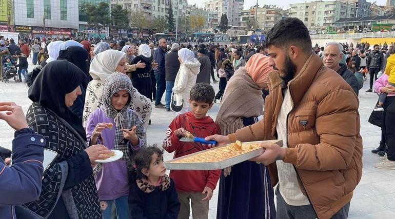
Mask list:
[[[207,111],[214,100],[214,89],[206,83],[195,84],[189,95],[191,111],[177,115],[167,128],[163,148],[174,158],[208,149],[208,146],[195,142],[181,142],[180,138],[187,135],[206,137],[220,134],[221,130],[214,123]],[[174,180],[175,189],[181,203],[180,219],[189,218],[190,205],[194,219],[208,218],[208,202],[220,178],[221,170],[171,170],[170,177]]]

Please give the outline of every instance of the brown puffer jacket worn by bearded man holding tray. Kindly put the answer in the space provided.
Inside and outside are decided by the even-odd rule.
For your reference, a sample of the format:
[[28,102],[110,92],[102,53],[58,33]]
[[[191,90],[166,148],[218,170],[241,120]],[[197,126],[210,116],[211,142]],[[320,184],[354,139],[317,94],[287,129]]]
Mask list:
[[[269,76],[264,120],[229,135],[234,142],[272,140],[283,102],[282,80]],[[362,175],[359,101],[344,79],[323,67],[312,54],[289,83],[293,109],[288,114],[288,148],[284,162],[297,170],[302,192],[319,218],[330,218],[346,205]],[[275,163],[269,165],[272,186],[278,183]]]

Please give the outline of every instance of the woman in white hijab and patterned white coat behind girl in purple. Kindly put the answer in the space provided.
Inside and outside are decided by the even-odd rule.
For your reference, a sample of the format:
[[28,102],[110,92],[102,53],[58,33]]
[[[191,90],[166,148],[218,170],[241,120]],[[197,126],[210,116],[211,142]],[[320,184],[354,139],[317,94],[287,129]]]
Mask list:
[[[92,59],[89,73],[93,80],[89,82],[85,96],[85,106],[83,113],[83,126],[86,126],[88,116],[97,108],[103,106],[103,88],[107,78],[113,72],[126,74],[126,54],[124,52],[111,49],[98,53]],[[131,100],[130,108],[136,111],[141,121],[144,123],[144,129],[147,130],[148,121],[151,116],[151,101],[141,95],[137,89],[133,88],[134,96]]]

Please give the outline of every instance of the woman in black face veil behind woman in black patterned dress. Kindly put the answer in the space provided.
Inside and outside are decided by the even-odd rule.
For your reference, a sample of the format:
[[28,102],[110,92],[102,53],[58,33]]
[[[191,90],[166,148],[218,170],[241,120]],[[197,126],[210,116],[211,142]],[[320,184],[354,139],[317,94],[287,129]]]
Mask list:
[[73,111],[78,118],[82,121],[82,116],[84,112],[84,105],[85,105],[85,93],[88,83],[90,82],[90,75],[89,75],[89,53],[80,46],[70,46],[66,50],[63,50],[63,56],[59,56],[57,59],[66,59],[70,63],[74,64],[78,68],[80,68],[85,76],[83,82],[81,83],[81,95],[78,95],[77,99],[75,100],[73,106],[70,107],[71,111]]

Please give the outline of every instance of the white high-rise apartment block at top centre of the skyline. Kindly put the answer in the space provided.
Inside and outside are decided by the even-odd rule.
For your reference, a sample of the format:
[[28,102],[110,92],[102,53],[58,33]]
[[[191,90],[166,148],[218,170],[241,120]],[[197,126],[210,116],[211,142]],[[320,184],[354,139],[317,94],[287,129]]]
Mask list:
[[239,25],[239,13],[243,10],[243,6],[244,0],[210,0],[204,3],[206,10],[218,12],[218,22],[222,14],[226,14],[230,26]]

